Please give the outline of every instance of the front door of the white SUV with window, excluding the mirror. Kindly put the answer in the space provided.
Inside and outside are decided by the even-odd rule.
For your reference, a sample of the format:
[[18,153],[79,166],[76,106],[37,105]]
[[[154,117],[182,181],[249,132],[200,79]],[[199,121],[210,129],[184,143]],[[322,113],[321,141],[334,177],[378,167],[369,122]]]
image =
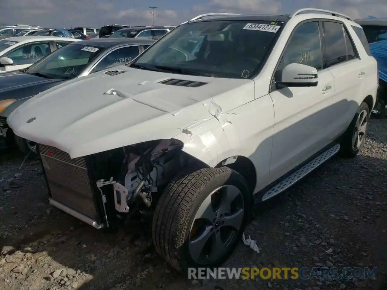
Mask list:
[[270,96],[274,102],[276,123],[270,162],[271,182],[330,143],[334,79],[329,70],[322,69],[321,35],[318,21],[296,26],[279,63],[275,75],[277,80],[289,63],[315,67],[319,80],[317,87],[277,88],[273,85]]

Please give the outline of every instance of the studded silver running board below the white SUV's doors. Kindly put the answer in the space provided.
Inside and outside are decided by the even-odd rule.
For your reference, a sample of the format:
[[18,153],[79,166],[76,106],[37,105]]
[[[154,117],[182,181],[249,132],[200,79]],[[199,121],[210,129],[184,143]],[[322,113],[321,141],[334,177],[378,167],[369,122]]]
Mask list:
[[339,152],[339,150],[340,150],[340,144],[337,144],[329,148],[327,151],[323,152],[315,159],[311,160],[303,167],[298,169],[296,172],[286,177],[283,181],[281,181],[280,183],[277,183],[274,187],[266,191],[265,194],[262,196],[262,201],[268,200],[269,198],[272,198],[273,196],[276,196],[277,194],[283,192],[285,189],[288,189],[290,186],[295,184],[301,178],[307,176],[310,172],[312,172],[314,169],[316,169],[325,161],[327,161],[330,157],[332,157],[337,152]]

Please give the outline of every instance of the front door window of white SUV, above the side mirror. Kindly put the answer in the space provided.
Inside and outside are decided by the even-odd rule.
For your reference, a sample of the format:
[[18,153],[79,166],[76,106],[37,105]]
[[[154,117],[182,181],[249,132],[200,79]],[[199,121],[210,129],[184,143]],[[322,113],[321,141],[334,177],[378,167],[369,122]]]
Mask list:
[[[344,46],[345,48],[345,46]],[[318,22],[307,22],[296,27],[286,46],[279,70],[290,63],[301,63],[322,69],[322,52]]]

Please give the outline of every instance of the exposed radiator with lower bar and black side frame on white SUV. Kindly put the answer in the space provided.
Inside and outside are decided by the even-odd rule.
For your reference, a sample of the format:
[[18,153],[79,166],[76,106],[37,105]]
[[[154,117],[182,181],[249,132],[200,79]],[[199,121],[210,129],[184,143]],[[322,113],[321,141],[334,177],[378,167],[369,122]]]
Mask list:
[[96,229],[114,225],[113,185],[97,187],[99,176],[111,173],[103,160],[94,155],[72,159],[58,148],[42,144],[37,147],[50,204]]

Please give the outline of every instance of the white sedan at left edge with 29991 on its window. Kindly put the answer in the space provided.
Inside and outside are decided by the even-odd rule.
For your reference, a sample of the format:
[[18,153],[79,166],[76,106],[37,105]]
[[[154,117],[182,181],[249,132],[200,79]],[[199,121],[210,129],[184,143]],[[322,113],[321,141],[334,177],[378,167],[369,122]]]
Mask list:
[[54,50],[76,38],[53,36],[19,36],[0,40],[0,74],[29,67]]

